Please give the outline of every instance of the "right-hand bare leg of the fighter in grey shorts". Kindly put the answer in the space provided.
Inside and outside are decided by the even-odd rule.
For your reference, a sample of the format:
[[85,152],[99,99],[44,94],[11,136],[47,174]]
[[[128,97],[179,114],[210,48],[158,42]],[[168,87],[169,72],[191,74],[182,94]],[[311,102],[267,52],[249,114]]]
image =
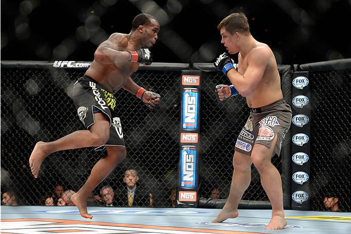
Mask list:
[[255,144],[251,153],[251,160],[261,177],[262,187],[272,204],[272,219],[265,229],[283,229],[287,224],[284,218],[282,179],[277,168],[271,163],[277,136],[272,147]]

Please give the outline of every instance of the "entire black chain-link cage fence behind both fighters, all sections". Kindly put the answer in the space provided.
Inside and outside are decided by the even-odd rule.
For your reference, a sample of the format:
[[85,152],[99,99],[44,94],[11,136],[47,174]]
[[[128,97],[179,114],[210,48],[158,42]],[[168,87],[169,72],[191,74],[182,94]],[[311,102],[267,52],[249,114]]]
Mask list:
[[[77,191],[106,153],[91,147],[63,150],[43,161],[37,179],[30,172],[28,159],[37,141],[53,141],[83,129],[71,100],[73,84],[83,73],[84,70],[52,67],[1,69],[3,197],[7,191],[12,191],[20,205],[43,205],[44,199],[55,194],[55,185]],[[350,127],[347,124],[350,94],[346,88],[350,70],[312,72],[311,75],[314,105],[311,184],[315,194],[311,209],[326,210],[322,200],[327,191],[342,188],[343,197],[339,190],[335,196],[341,204],[349,201],[350,186],[343,184],[350,178],[347,171],[350,166]],[[109,185],[116,191],[125,186],[124,172],[136,169],[140,176],[138,186],[153,194],[156,207],[171,207],[171,190],[177,187],[178,180],[181,70],[138,70],[132,79],[147,90],[159,93],[162,101],[151,110],[135,95],[125,90],[117,92],[116,110],[121,118],[127,157],[93,190],[90,200],[100,196],[103,186]],[[216,188],[226,199],[233,173],[235,141],[249,110],[241,96],[222,102],[216,99],[215,85],[229,84],[221,72],[203,72],[202,81],[200,192],[202,197],[208,198]],[[276,155],[272,163],[282,173],[281,157]],[[254,166],[251,178],[242,199],[268,201]],[[337,186],[328,188],[331,184]],[[6,202],[3,200],[3,203]],[[143,206],[150,204],[146,202]],[[349,205],[343,209],[351,210]]]

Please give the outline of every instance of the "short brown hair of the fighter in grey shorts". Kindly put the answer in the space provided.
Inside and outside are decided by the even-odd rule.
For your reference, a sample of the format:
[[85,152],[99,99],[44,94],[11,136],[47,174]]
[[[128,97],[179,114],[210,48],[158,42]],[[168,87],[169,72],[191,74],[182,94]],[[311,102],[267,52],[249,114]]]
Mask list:
[[251,34],[249,23],[244,13],[233,13],[224,18],[217,26],[218,31],[221,31],[222,28],[226,29],[232,35],[234,35],[235,32],[246,35]]

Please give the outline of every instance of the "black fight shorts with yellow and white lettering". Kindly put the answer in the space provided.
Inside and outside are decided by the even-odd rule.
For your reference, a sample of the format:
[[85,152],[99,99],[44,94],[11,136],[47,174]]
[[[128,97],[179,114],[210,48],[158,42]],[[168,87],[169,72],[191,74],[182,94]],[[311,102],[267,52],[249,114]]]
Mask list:
[[95,150],[102,150],[105,145],[125,147],[121,121],[114,110],[116,98],[107,88],[84,75],[74,84],[72,98],[85,129],[89,129],[95,123],[94,113],[102,112],[108,116],[110,138],[104,145],[96,147]]

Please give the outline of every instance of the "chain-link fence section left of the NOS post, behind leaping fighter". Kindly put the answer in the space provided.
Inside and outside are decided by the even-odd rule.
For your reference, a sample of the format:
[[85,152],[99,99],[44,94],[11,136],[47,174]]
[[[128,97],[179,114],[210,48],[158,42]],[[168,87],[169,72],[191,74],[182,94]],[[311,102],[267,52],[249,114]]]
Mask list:
[[[71,100],[73,84],[83,74],[84,70],[54,68],[1,70],[1,188],[2,193],[15,193],[21,205],[42,205],[43,198],[54,194],[55,185],[77,191],[106,153],[91,147],[63,150],[43,161],[37,179],[30,172],[28,159],[37,141],[53,141],[83,129]],[[154,110],[135,95],[118,91],[116,109],[127,157],[94,189],[94,195],[100,195],[104,185],[114,190],[125,187],[124,172],[136,169],[138,186],[153,191],[156,205],[171,204],[168,191],[177,184],[180,75],[181,71],[150,70],[134,74],[137,84],[163,97]]]

